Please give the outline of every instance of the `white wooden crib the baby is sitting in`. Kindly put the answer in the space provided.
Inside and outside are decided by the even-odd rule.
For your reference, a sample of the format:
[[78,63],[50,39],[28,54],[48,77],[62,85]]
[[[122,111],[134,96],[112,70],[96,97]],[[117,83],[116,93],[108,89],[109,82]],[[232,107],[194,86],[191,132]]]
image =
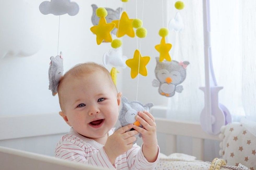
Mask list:
[[[156,115],[154,113],[165,114],[166,111],[167,108],[161,106],[151,109],[153,115]],[[219,140],[217,135],[203,132],[199,123],[172,121],[156,117],[156,124],[157,132],[165,134],[165,150],[169,154],[177,151],[177,135],[193,138],[192,155],[199,160],[204,158],[204,140]],[[3,170],[99,169],[46,156],[54,153],[56,141],[69,131],[69,127],[57,113],[0,117],[0,129],[0,165]],[[22,147],[17,146],[16,143],[20,143]],[[33,153],[38,152],[38,147],[42,148],[39,150],[45,152]]]

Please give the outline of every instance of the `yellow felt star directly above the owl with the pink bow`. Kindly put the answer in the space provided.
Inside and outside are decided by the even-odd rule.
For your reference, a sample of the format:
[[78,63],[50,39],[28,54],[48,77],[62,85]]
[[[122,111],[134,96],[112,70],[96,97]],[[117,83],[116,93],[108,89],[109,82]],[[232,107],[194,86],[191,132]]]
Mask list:
[[169,51],[172,48],[172,44],[165,43],[165,37],[162,37],[160,44],[155,46],[155,49],[160,53],[159,61],[162,62],[164,59],[172,61]]

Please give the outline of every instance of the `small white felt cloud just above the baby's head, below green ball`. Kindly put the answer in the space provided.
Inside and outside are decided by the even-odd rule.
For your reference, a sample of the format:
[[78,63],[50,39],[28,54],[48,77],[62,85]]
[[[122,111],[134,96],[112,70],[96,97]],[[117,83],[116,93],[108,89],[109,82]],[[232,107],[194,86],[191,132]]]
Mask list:
[[105,66],[111,65],[112,67],[125,68],[126,56],[123,56],[123,50],[121,47],[110,49],[109,52],[103,55],[103,64]]

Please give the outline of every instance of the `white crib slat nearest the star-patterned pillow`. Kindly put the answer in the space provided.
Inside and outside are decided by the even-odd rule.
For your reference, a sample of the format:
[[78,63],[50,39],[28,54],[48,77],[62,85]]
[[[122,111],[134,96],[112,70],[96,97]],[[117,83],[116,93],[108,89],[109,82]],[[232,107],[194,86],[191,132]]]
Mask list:
[[203,160],[203,146],[204,139],[192,138],[192,155],[197,158],[197,160]]

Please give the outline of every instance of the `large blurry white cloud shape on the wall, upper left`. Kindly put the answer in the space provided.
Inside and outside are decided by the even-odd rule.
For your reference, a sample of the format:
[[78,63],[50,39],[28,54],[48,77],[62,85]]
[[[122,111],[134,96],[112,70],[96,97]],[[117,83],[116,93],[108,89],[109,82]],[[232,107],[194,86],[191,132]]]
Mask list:
[[[40,50],[45,31],[36,1],[4,1],[0,5],[0,59],[10,56],[30,56]],[[11,10],[10,10],[11,6]],[[33,15],[31,15],[33,14]]]

